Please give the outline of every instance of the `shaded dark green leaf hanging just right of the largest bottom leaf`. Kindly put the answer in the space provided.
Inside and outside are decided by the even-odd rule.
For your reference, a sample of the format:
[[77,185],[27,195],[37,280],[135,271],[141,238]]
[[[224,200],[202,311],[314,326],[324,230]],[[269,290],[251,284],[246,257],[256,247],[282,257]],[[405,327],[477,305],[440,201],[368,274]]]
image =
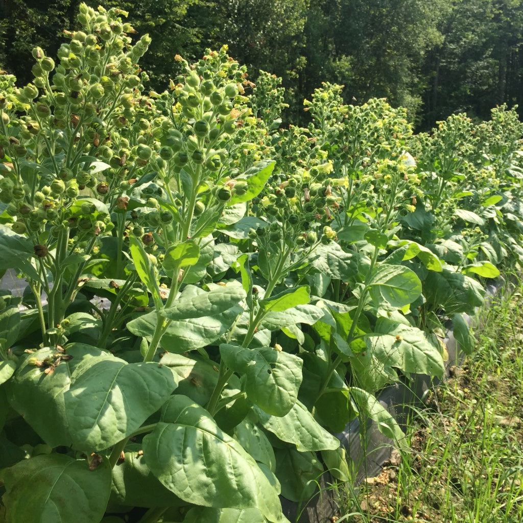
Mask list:
[[306,502],[314,494],[324,469],[315,452],[300,452],[293,447],[275,449],[276,476],[281,495],[293,502]]

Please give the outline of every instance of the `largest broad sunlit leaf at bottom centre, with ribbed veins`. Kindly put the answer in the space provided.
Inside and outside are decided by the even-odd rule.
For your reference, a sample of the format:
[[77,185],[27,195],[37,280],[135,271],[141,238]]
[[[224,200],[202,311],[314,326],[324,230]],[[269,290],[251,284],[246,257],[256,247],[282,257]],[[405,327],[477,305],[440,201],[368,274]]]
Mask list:
[[282,517],[278,495],[254,459],[188,397],[171,397],[162,422],[143,438],[143,452],[161,483],[188,503]]

